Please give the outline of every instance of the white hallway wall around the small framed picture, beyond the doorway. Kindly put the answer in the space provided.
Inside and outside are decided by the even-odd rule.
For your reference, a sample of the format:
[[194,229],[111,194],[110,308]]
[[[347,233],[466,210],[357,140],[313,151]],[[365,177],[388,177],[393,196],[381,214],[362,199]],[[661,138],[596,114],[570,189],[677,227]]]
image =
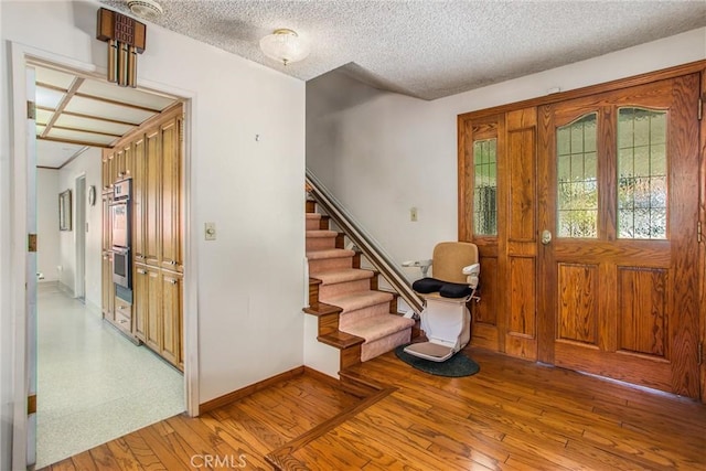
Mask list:
[[[100,279],[101,267],[101,222],[103,207],[100,205],[101,179],[101,152],[98,148],[90,148],[63,167],[58,172],[58,192],[72,191],[72,229],[58,232],[61,258],[57,265],[62,266],[58,272],[60,281],[68,288],[69,292],[75,291],[76,274],[76,234],[77,231],[85,231],[85,227],[76,225],[76,179],[86,176],[86,222],[88,232],[86,233],[86,303],[94,310],[100,310],[101,290]],[[87,202],[88,189],[95,185],[98,196],[95,206]],[[58,223],[57,223],[58,225]]]

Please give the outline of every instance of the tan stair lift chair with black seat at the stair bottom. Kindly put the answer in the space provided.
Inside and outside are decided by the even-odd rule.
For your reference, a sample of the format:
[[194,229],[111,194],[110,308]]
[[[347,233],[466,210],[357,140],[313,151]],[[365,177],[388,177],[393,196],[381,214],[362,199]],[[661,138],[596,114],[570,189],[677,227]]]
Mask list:
[[[475,244],[442,242],[434,248],[431,260],[405,261],[405,267],[421,268],[422,279],[411,288],[424,298],[421,330],[428,342],[413,343],[405,352],[432,362],[443,362],[464,347],[471,338],[468,302],[480,301],[475,291],[481,266]],[[434,278],[427,277],[432,266]]]

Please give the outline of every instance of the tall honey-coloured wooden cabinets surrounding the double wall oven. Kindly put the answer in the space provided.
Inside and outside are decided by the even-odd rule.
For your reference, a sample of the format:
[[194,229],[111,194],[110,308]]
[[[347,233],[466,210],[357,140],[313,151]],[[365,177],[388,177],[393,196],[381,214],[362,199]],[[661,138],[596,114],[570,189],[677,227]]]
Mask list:
[[[116,301],[111,270],[104,268],[104,312],[118,327],[183,368],[182,121],[181,105],[104,151],[104,250],[110,249],[109,196],[117,180],[132,178],[132,299],[128,312]],[[107,270],[107,271],[106,271]],[[108,286],[109,285],[109,286]],[[122,321],[122,322],[121,322]]]

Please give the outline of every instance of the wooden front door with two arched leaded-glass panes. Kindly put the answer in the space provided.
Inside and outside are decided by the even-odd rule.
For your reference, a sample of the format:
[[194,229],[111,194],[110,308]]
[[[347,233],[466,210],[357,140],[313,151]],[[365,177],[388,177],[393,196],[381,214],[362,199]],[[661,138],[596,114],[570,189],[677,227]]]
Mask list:
[[698,96],[539,108],[539,361],[698,397]]

